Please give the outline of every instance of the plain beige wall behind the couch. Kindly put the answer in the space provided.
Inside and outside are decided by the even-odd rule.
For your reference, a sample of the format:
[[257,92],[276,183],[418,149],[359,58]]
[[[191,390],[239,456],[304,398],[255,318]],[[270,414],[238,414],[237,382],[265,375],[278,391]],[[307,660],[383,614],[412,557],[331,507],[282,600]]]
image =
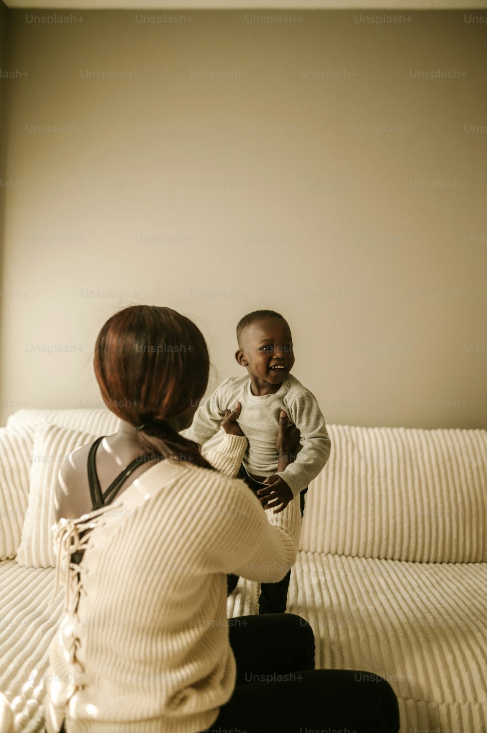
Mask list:
[[3,419],[97,405],[97,332],[154,303],[198,323],[211,388],[271,308],[327,422],[485,427],[486,23],[276,14],[10,11]]

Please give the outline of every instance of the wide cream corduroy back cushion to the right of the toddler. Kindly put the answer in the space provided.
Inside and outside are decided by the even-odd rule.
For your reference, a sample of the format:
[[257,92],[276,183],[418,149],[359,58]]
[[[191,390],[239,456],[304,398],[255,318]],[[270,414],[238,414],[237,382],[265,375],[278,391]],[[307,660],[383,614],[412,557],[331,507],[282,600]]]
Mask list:
[[416,562],[487,561],[487,430],[327,426],[300,549]]

